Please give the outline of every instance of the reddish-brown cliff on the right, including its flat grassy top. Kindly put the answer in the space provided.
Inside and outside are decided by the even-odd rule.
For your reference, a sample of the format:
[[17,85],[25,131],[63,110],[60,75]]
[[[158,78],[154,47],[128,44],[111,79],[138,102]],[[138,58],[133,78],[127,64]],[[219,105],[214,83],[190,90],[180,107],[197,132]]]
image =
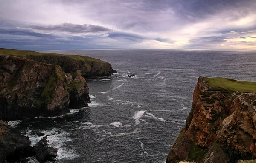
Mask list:
[[192,109],[166,163],[256,158],[256,82],[200,77]]

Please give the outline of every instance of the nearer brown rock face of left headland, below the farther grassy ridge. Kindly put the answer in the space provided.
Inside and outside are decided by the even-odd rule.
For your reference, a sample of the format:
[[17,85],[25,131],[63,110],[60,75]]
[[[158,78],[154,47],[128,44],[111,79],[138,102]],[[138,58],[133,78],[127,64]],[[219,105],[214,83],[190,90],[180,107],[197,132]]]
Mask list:
[[56,116],[87,106],[87,84],[76,74],[72,79],[59,65],[0,55],[0,119]]

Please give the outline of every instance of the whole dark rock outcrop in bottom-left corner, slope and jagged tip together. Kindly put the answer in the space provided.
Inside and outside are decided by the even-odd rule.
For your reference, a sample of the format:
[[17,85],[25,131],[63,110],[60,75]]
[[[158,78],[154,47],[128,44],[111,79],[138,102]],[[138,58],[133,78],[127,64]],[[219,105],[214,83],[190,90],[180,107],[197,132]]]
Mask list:
[[26,162],[26,158],[31,156],[44,163],[57,157],[58,149],[49,147],[47,137],[33,147],[30,144],[28,137],[0,121],[0,163]]

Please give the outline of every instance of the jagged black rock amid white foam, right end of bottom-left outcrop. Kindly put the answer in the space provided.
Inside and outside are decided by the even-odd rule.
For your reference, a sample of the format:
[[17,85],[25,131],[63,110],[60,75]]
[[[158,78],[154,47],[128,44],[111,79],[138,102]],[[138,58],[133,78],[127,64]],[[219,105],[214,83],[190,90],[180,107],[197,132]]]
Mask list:
[[47,137],[43,137],[36,146],[33,147],[33,151],[36,153],[36,159],[41,162],[55,161],[57,157],[57,148],[49,147]]

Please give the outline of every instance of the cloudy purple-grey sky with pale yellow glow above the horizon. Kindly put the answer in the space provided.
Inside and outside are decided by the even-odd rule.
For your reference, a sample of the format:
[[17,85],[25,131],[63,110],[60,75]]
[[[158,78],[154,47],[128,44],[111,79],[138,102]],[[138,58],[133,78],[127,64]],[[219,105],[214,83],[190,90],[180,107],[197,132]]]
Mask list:
[[0,48],[256,49],[256,0],[0,0]]

